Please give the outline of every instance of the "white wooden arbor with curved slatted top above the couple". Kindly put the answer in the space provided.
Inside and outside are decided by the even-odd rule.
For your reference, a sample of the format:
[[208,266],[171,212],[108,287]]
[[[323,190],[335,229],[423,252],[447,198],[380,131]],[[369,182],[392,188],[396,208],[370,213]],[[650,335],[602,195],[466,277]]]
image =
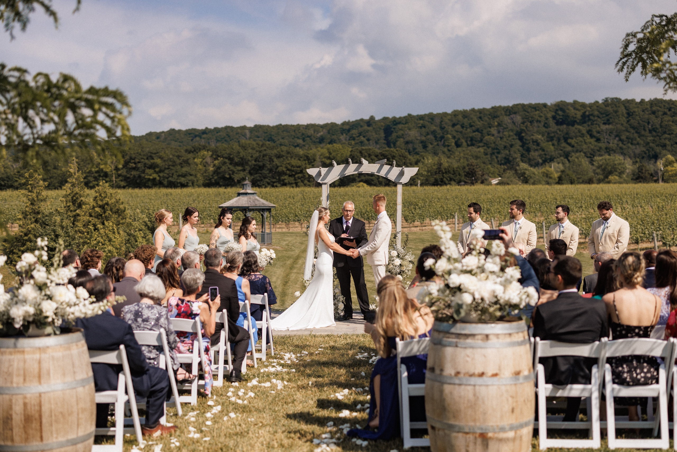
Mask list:
[[[308,173],[315,178],[315,181],[322,184],[322,206],[327,207],[329,199],[329,184],[339,180],[344,176],[351,174],[376,174],[388,178],[397,184],[397,222],[395,223],[395,232],[402,232],[402,184],[409,182],[410,178],[416,174],[418,168],[397,167],[393,160],[393,165],[386,165],[386,160],[379,160],[376,163],[369,163],[365,159],[360,159],[360,163],[353,163],[348,159],[347,165],[336,165],[332,160],[332,166],[328,168],[310,168],[306,169]],[[397,234],[397,246],[401,246],[402,234]]]

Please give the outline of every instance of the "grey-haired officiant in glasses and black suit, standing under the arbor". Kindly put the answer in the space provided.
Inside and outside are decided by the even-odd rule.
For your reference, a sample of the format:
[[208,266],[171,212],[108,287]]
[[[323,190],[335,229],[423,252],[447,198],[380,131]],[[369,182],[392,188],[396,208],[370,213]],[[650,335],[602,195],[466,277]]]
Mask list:
[[[334,236],[336,243],[340,243],[343,249],[359,248],[368,242],[367,231],[362,220],[357,220],[355,214],[355,204],[352,201],[343,203],[343,216],[332,220],[329,223],[329,233]],[[353,238],[353,240],[344,240],[344,238]],[[343,240],[343,243],[341,241]],[[341,285],[341,295],[345,297],[345,312],[337,321],[346,321],[353,318],[353,299],[350,294],[351,277],[355,281],[355,292],[357,293],[357,302],[359,310],[364,315],[364,321],[374,323],[376,313],[369,309],[369,295],[367,295],[367,285],[364,283],[364,262],[362,256],[357,258],[334,253],[334,267],[336,267],[336,276]]]

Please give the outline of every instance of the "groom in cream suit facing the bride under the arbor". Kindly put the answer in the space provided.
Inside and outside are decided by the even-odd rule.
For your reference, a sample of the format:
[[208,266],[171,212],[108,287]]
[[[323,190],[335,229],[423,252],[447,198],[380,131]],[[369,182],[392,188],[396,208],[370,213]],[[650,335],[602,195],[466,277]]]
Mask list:
[[388,264],[388,246],[393,224],[385,212],[385,196],[383,194],[374,194],[372,209],[377,216],[372,233],[369,234],[369,241],[366,245],[353,249],[352,254],[353,258],[357,258],[358,255],[366,255],[367,263],[372,266],[374,272],[374,282],[378,287],[378,283],[385,276],[385,266]]

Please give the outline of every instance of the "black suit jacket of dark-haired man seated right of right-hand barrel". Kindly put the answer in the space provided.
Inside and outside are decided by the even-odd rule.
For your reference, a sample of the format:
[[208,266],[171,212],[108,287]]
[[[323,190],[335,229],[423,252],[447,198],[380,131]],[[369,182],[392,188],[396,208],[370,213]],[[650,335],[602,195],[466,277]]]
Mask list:
[[[533,314],[533,337],[541,340],[590,344],[609,337],[607,307],[602,300],[578,293],[560,293],[556,300],[540,304]],[[540,358],[546,383],[590,384],[590,370],[596,358],[553,356]],[[601,370],[600,370],[601,372]]]

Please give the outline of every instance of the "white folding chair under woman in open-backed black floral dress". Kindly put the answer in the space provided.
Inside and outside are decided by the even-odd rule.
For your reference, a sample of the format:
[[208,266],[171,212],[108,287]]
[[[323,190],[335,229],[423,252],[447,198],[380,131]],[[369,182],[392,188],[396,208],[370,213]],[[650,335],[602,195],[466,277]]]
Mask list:
[[[632,354],[655,356],[663,358],[665,364],[658,369],[658,383],[638,386],[624,386],[614,384],[611,378],[611,366],[605,365],[605,393],[607,398],[607,436],[609,437],[609,449],[627,447],[635,449],[668,449],[670,447],[670,431],[668,430],[668,384],[666,382],[666,369],[668,375],[674,368],[674,341],[663,341],[647,338],[630,338],[609,341],[607,344],[607,358],[627,356]],[[630,421],[626,417],[615,416],[614,397],[658,397],[658,410],[655,420]],[[653,408],[652,408],[653,409]],[[649,410],[647,410],[649,411]],[[660,422],[660,439],[623,439],[616,438],[616,428],[654,428]],[[657,429],[654,428],[655,434]]]

